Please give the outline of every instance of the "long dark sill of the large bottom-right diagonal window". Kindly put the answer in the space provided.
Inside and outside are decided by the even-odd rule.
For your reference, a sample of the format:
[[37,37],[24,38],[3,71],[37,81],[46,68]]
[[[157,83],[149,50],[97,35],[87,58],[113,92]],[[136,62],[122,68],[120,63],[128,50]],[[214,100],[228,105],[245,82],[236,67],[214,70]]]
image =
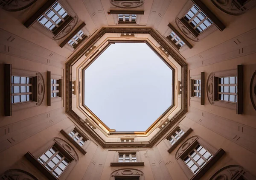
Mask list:
[[197,174],[195,174],[190,180],[199,180],[206,172],[208,169],[212,167],[216,161],[221,158],[222,155],[224,155],[225,151],[223,149],[219,149],[218,152],[215,153],[215,155],[212,157],[211,160],[209,160],[205,166],[198,171]]

